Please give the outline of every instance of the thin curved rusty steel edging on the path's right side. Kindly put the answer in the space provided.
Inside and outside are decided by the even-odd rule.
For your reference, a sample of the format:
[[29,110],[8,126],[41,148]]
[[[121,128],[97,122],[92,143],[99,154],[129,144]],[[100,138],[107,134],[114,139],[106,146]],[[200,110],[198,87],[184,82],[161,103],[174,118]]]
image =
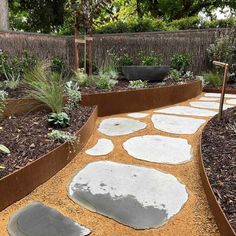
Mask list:
[[[205,131],[205,128],[203,129],[202,133]],[[202,154],[202,135],[201,135],[200,136],[200,159],[201,159],[200,160],[200,175],[201,175],[202,185],[205,190],[208,203],[215,217],[217,226],[220,230],[220,234],[222,236],[236,236],[236,233],[234,232],[234,229],[230,225],[223,209],[221,208],[220,204],[217,202],[216,196],[211,187],[210,181],[208,179],[208,176],[204,167],[202,156],[203,154]]]

